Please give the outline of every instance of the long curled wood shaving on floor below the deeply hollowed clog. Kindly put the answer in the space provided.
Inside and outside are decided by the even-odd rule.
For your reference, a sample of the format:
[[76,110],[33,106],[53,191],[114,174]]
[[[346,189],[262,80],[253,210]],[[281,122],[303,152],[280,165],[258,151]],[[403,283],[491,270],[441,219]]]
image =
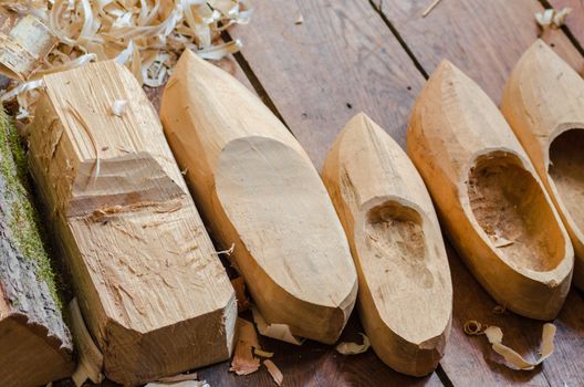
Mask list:
[[502,344],[503,341],[503,331],[500,327],[491,325],[483,326],[477,321],[469,321],[465,324],[465,333],[467,335],[486,335],[489,343],[492,345],[492,348],[496,353],[503,356],[508,366],[514,369],[530,370],[533,369],[539,364],[543,363],[550,355],[553,354],[554,344],[553,339],[555,336],[555,325],[546,323],[543,325],[542,331],[542,341],[540,346],[540,358],[535,362],[525,360],[515,351],[511,349],[507,345]]

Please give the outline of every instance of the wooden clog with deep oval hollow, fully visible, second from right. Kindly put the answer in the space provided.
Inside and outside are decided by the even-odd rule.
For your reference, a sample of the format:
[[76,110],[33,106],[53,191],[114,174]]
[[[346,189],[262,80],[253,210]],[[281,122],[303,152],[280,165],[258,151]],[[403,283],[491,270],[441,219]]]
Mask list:
[[416,102],[407,149],[482,286],[518,314],[554,318],[572,279],[567,233],[497,106],[447,61]]

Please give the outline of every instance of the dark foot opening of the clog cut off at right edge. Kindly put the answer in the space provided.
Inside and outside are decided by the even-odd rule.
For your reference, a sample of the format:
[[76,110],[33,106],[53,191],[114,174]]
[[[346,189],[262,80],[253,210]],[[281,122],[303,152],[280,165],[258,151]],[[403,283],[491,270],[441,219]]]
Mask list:
[[557,136],[550,146],[550,161],[557,194],[576,227],[584,230],[584,130]]

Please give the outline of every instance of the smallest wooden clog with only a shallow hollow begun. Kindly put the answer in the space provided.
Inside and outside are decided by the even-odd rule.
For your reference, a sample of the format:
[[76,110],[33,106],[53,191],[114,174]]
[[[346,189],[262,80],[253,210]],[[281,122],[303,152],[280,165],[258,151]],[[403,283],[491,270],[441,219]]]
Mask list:
[[452,282],[421,177],[392,137],[358,114],[328,153],[323,180],[348,237],[373,349],[400,373],[431,373],[450,333]]

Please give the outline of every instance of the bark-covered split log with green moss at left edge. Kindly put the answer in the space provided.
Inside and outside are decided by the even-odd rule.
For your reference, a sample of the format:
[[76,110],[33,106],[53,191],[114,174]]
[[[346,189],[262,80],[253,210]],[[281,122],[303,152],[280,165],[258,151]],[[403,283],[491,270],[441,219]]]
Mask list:
[[27,178],[18,135],[0,109],[0,385],[10,387],[45,385],[75,366]]

